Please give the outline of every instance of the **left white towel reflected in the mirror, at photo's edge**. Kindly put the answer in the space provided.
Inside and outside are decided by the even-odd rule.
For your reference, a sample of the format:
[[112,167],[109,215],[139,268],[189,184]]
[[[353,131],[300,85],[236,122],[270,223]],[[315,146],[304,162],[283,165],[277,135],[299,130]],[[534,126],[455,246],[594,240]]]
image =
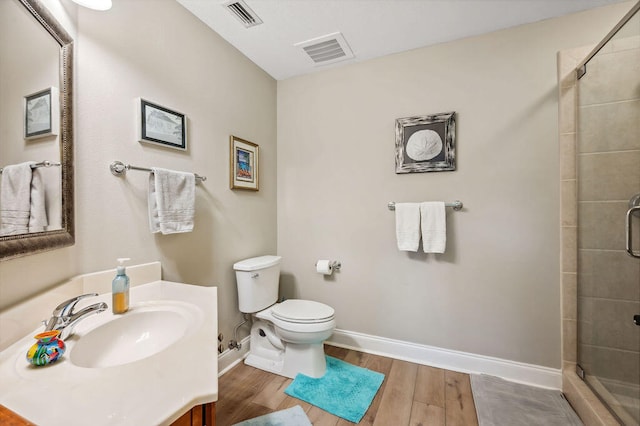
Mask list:
[[29,232],[31,210],[31,164],[6,166],[0,187],[0,235]]

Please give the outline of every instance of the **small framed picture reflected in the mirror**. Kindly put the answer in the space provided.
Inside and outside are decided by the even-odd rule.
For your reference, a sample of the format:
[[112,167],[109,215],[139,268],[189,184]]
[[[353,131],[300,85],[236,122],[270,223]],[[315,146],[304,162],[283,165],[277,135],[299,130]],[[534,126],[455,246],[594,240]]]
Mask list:
[[57,135],[60,124],[60,93],[49,87],[24,97],[24,138]]

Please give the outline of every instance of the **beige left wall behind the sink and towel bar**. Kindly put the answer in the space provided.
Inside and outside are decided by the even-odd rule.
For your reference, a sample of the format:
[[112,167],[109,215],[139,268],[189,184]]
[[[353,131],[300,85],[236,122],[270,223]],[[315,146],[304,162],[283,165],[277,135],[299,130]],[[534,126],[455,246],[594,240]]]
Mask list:
[[[117,257],[160,260],[164,279],[219,287],[228,340],[241,320],[233,263],[276,252],[276,83],[172,0],[113,3],[107,13],[78,8],[76,244],[0,263],[0,308]],[[139,96],[187,114],[188,152],[137,142]],[[229,189],[231,134],[260,145],[257,193]],[[148,174],[115,177],[113,160],[206,176],[195,232],[151,234]]]

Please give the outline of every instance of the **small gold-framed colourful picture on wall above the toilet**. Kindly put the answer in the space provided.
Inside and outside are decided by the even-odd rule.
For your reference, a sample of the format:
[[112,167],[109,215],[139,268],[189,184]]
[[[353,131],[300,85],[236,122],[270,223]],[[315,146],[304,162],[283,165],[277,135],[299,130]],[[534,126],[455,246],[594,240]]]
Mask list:
[[231,189],[258,191],[258,145],[233,135],[230,139]]

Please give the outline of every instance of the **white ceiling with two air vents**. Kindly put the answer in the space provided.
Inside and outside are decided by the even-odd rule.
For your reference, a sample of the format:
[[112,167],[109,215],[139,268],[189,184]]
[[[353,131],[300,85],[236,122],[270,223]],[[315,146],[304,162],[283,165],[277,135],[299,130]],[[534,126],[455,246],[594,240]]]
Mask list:
[[[263,21],[251,28],[227,10],[227,0],[177,1],[282,80],[622,0],[244,0]],[[353,59],[316,66],[295,46],[335,32]]]

